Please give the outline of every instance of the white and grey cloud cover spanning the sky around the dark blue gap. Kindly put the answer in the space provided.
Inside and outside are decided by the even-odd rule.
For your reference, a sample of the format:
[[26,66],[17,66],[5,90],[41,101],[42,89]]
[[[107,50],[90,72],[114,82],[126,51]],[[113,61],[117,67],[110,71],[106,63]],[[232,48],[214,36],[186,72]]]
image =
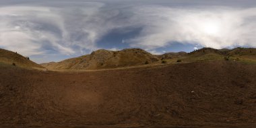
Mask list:
[[[104,48],[96,44],[98,40],[113,29],[125,32],[126,28],[141,31],[135,38],[117,43],[154,54],[173,42],[216,49],[256,46],[256,7],[181,8],[134,1],[126,1],[127,6],[88,1],[59,1],[63,6],[53,3],[0,7],[0,46],[26,56],[46,55],[49,49],[75,55]],[[115,46],[119,49],[118,44]]]

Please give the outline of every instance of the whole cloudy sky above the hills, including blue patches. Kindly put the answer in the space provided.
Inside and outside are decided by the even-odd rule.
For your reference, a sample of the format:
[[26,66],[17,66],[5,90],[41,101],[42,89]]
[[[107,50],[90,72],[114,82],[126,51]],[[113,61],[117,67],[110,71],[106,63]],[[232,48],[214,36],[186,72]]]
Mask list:
[[36,63],[108,49],[256,47],[255,0],[1,0],[0,48]]

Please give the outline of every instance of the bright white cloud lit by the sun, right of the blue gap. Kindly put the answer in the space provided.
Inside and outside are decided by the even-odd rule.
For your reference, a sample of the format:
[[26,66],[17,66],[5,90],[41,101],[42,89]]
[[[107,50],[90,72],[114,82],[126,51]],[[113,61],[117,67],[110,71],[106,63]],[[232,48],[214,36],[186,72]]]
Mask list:
[[130,40],[133,46],[156,49],[176,42],[197,43],[221,49],[229,46],[256,46],[256,8],[225,7],[177,9],[135,8],[134,19],[142,19],[143,31]]

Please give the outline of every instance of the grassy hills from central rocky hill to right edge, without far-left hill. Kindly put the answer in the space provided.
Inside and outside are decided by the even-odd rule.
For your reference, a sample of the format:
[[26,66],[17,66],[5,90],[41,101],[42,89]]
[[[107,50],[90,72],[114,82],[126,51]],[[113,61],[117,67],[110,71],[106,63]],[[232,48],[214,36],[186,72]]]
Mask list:
[[[158,60],[156,59],[158,57]],[[181,60],[180,63],[193,63],[197,61],[224,61],[227,58],[229,61],[241,61],[247,64],[256,64],[256,50],[236,48],[228,49],[211,49],[203,48],[191,53],[166,53],[164,55],[150,55],[145,51],[138,49],[125,49],[123,51],[106,51],[100,50],[73,59],[67,59],[59,63],[45,63],[42,66],[49,69],[113,69],[126,67],[148,67],[162,64],[173,64]],[[152,59],[156,59],[152,61]],[[162,60],[162,61],[160,61]],[[145,65],[148,61],[149,65]],[[163,62],[163,63],[162,63]]]

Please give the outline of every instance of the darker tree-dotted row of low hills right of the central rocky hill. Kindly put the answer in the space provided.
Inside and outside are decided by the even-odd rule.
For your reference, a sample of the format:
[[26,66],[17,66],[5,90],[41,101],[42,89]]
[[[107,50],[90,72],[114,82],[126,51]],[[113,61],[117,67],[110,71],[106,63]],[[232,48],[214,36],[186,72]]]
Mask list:
[[[167,55],[166,55],[167,54]],[[236,49],[212,49],[203,48],[187,54],[166,53],[160,55],[168,63],[176,63],[180,60],[185,63],[192,63],[195,61],[223,61],[233,60],[241,61],[243,63],[256,64],[256,49],[253,48],[236,48]]]

